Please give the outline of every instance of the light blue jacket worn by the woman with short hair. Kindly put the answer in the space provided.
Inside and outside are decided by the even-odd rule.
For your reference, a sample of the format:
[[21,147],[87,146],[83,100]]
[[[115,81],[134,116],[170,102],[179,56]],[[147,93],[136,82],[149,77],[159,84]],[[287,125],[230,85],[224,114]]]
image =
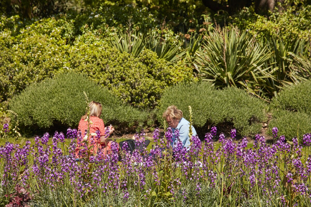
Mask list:
[[[173,142],[171,143],[171,145],[173,146],[174,143],[177,142],[177,138],[175,137],[174,133],[175,133],[175,129],[179,130],[179,139],[181,142],[183,142],[183,147],[186,147],[187,149],[190,146],[190,139],[189,139],[189,125],[190,122],[188,122],[186,119],[181,118],[179,120],[179,123],[177,125],[176,128],[172,128],[172,132],[173,132]],[[192,126],[192,136],[197,135],[196,130],[194,129],[194,127]]]

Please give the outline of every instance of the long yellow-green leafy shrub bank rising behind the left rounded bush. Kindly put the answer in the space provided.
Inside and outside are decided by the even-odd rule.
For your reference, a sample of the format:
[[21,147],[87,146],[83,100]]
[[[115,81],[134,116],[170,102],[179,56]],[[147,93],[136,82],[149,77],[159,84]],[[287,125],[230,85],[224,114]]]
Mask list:
[[[92,18],[97,19],[95,16]],[[65,15],[33,22],[19,32],[15,29],[18,20],[1,17],[0,23],[0,101],[12,98],[31,83],[77,70],[107,86],[124,103],[154,108],[167,86],[193,78],[192,69],[181,61],[167,65],[150,50],[139,58],[122,54],[108,46],[112,31],[99,34],[94,25],[86,24],[80,28],[81,22]]]

